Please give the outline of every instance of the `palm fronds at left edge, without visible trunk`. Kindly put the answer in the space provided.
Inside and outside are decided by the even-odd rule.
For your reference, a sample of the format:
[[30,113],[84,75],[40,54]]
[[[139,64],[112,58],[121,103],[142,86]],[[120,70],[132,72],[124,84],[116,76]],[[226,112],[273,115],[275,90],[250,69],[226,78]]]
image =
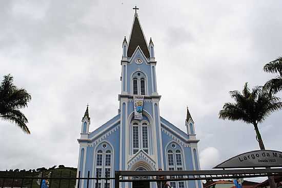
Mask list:
[[0,119],[15,123],[24,133],[30,134],[28,120],[19,109],[27,107],[31,96],[23,88],[13,85],[13,77],[8,74],[0,85]]

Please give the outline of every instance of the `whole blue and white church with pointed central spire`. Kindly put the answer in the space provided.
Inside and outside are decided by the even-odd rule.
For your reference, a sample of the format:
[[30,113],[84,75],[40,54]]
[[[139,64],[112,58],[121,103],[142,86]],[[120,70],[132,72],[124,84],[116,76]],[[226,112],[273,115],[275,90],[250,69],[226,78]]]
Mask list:
[[[158,169],[200,170],[195,125],[189,110],[186,130],[180,130],[159,113],[161,96],[157,91],[154,44],[149,45],[137,13],[129,42],[122,44],[121,92],[118,95],[118,114],[89,132],[88,107],[82,119],[77,175],[87,177],[114,177],[115,170],[157,171]],[[134,119],[133,96],[144,96],[142,120]],[[99,180],[98,188],[114,187],[113,180]],[[86,187],[86,180],[79,187]],[[122,187],[131,188],[131,183]],[[150,184],[152,188],[156,183]],[[173,188],[203,188],[201,181],[171,182]],[[90,187],[95,182],[90,181]]]

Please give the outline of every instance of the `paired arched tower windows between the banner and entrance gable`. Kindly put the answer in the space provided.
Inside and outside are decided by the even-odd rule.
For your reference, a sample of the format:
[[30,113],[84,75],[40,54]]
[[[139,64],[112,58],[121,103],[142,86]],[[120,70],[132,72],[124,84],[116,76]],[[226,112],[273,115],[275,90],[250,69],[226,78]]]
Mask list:
[[149,152],[149,127],[148,122],[134,121],[132,124],[132,153],[137,153],[143,149],[146,153]]

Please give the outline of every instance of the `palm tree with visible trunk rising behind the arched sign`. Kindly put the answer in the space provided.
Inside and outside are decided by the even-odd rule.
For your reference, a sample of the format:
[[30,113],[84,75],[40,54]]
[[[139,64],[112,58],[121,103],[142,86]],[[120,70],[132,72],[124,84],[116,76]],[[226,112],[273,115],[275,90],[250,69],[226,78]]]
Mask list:
[[[245,83],[242,93],[230,91],[235,103],[225,103],[219,111],[219,118],[231,121],[243,121],[253,124],[260,150],[265,150],[263,139],[258,130],[258,123],[262,123],[274,111],[282,109],[282,102],[269,93],[269,90],[256,86],[250,91],[248,83]],[[271,188],[276,187],[274,178],[268,177]]]

